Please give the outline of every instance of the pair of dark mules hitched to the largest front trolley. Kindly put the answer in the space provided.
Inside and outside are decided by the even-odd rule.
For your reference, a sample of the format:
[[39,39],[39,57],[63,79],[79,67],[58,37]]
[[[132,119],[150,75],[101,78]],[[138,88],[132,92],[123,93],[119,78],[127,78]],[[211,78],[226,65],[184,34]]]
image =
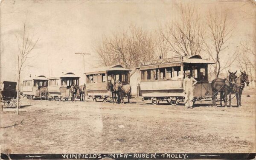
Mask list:
[[212,106],[216,107],[216,96],[220,93],[220,102],[222,106],[222,99],[224,100],[225,107],[227,107],[227,95],[229,95],[229,106],[231,105],[231,94],[236,94],[236,105],[241,106],[241,95],[245,83],[248,85],[249,79],[247,73],[240,71],[241,75],[236,76],[236,72],[232,73],[230,71],[226,79],[214,79],[212,81]]

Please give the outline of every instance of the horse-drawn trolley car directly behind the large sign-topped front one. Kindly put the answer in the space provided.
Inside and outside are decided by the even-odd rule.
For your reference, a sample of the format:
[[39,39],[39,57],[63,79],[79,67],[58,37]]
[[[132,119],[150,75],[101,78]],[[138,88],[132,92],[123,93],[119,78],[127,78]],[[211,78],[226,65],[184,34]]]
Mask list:
[[108,81],[114,84],[114,82],[120,80],[122,84],[129,84],[130,71],[122,65],[111,65],[90,70],[85,73],[86,95],[93,98],[93,101],[98,99],[102,99],[104,102],[111,101],[112,95],[107,87]]

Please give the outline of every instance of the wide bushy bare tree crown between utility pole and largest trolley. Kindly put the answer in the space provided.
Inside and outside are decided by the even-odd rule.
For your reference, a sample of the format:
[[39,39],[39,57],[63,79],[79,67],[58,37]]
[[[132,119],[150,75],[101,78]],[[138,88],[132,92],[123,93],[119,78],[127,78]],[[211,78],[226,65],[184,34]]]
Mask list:
[[139,66],[140,61],[156,58],[154,37],[142,28],[131,25],[128,31],[114,32],[96,45],[101,65],[120,64],[128,69]]

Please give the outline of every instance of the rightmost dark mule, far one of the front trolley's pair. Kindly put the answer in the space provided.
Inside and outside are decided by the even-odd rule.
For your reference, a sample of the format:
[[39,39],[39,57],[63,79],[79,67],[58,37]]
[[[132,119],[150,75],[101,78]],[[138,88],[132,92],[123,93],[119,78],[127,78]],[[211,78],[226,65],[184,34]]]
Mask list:
[[[233,86],[232,89],[228,90],[228,95],[229,95],[229,101],[230,101],[230,107],[231,106],[231,94],[236,94],[236,105],[237,107],[241,106],[241,95],[243,93],[243,89],[246,83],[247,85],[250,83],[249,79],[248,79],[248,75],[246,74],[246,72],[241,72],[241,75],[239,76],[239,78],[236,80],[236,84]],[[223,96],[223,94],[222,94]],[[224,99],[224,98],[223,98]],[[225,101],[225,99],[224,99]]]

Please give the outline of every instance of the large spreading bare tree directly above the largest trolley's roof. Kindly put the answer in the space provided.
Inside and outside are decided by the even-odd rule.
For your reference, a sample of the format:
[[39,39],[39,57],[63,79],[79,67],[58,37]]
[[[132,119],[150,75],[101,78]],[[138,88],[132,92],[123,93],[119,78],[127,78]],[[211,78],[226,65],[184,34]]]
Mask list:
[[204,45],[205,31],[195,5],[180,5],[181,19],[166,24],[160,35],[168,42],[169,51],[180,56],[200,54]]

